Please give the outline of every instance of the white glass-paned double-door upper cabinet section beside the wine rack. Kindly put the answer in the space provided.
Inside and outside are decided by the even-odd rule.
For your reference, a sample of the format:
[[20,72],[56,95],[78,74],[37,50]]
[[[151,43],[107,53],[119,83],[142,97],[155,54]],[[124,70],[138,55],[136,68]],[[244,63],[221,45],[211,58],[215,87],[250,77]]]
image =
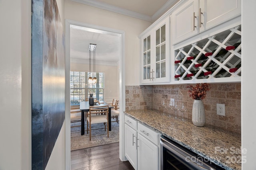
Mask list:
[[140,37],[140,82],[170,82],[170,19]]

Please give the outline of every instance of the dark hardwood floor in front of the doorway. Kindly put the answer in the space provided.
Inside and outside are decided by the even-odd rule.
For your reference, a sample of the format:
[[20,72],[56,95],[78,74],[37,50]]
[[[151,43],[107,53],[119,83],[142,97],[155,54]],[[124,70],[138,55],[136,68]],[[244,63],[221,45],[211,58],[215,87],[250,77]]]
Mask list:
[[134,170],[119,159],[119,142],[71,151],[71,170]]

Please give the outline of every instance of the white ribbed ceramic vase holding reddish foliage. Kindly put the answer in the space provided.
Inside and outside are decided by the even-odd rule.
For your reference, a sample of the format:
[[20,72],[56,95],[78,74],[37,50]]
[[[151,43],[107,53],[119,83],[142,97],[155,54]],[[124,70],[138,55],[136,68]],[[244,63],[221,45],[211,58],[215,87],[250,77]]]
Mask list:
[[203,127],[205,124],[204,104],[202,100],[194,100],[192,108],[192,122],[194,125]]

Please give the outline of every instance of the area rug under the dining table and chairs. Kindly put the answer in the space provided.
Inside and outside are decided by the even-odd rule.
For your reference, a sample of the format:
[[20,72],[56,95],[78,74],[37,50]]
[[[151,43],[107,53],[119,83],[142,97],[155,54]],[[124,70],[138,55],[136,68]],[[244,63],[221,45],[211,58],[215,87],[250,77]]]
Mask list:
[[[80,124],[80,122],[71,123],[71,126]],[[84,127],[84,135],[81,135],[81,127],[71,127],[71,151],[119,142],[119,123],[111,123],[109,137],[107,131],[104,130],[103,123],[93,124],[91,141],[89,140],[89,133],[87,134],[86,131],[86,123]]]

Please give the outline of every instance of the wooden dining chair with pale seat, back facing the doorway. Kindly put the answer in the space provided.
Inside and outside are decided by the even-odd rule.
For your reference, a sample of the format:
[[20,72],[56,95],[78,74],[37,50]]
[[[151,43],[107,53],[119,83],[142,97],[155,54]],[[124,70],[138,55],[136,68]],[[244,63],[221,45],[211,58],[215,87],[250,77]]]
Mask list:
[[[99,115],[98,115],[99,114]],[[92,134],[92,124],[104,123],[105,131],[108,131],[108,106],[90,106],[87,114],[87,134],[90,132],[90,141]],[[109,137],[109,134],[108,134]]]

